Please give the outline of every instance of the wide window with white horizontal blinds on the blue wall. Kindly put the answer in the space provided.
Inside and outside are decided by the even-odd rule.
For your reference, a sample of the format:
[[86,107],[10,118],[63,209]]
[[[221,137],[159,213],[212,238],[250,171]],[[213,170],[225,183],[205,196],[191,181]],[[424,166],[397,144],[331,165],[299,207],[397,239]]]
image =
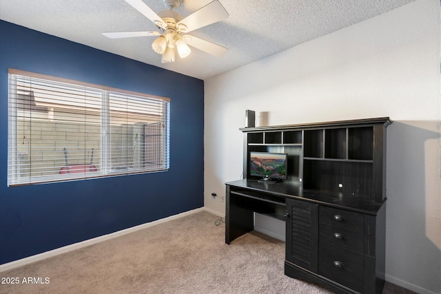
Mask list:
[[169,169],[170,99],[9,70],[8,185]]

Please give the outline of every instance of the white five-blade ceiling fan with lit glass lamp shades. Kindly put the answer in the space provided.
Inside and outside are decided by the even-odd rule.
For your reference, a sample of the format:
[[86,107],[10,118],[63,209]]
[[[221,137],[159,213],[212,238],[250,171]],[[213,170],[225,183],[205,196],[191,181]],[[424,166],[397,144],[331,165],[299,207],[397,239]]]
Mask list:
[[121,39],[138,36],[158,36],[152,43],[152,49],[162,54],[161,62],[168,63],[175,60],[175,49],[181,58],[189,56],[191,50],[188,45],[205,51],[214,56],[222,56],[227,48],[215,43],[199,39],[196,36],[187,34],[205,25],[216,23],[226,19],[229,14],[218,0],[214,0],[203,6],[187,17],[183,17],[174,9],[179,8],[183,0],[163,0],[168,10],[154,12],[143,0],[124,0],[130,6],[141,12],[147,19],[150,19],[160,30],[141,32],[103,32],[104,36],[110,39]]

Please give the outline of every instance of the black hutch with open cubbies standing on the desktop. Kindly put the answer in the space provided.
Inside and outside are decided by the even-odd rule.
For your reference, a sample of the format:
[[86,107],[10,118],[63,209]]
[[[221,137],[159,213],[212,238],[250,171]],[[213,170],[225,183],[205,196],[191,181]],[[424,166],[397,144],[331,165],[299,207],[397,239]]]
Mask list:
[[249,152],[288,154],[287,182],[305,189],[384,199],[384,129],[389,118],[240,129],[244,178]]

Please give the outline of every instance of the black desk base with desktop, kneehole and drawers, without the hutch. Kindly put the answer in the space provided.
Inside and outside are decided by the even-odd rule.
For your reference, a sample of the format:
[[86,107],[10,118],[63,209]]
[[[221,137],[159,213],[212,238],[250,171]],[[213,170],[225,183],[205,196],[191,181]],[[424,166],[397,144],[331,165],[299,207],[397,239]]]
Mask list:
[[[226,183],[225,243],[254,229],[254,212],[286,222],[285,274],[337,293],[384,284],[385,201],[307,191],[289,182]],[[339,220],[341,218],[341,220]]]

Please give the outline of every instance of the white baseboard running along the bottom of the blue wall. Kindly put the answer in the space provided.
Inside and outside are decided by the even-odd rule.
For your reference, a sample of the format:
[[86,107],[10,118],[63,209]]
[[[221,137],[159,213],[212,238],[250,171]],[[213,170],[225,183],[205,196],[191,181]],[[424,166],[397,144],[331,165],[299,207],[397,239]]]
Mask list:
[[[189,215],[191,215],[193,213],[198,213],[200,211],[208,211],[210,213],[214,213],[213,211],[205,209],[204,207],[201,207],[201,208],[198,208],[198,209],[193,209],[193,210],[190,210],[190,211],[185,211],[183,213],[178,213],[178,214],[176,214],[174,216],[169,216],[167,218],[161,218],[161,220],[155,220],[153,222],[147,222],[145,224],[140,224],[139,226],[131,227],[131,228],[128,228],[128,229],[123,229],[121,231],[116,231],[114,233],[110,233],[110,234],[107,234],[107,235],[102,235],[102,236],[99,236],[99,237],[96,237],[96,238],[85,240],[83,242],[78,242],[78,243],[70,244],[68,246],[63,246],[63,247],[60,247],[60,248],[57,248],[57,249],[54,249],[54,250],[51,250],[51,251],[46,251],[46,252],[43,252],[43,253],[39,253],[37,255],[32,255],[32,256],[29,256],[28,258],[22,258],[21,260],[14,260],[13,262],[8,262],[6,264],[0,264],[0,273],[3,272],[3,271],[9,271],[10,269],[15,269],[15,268],[17,268],[19,266],[23,266],[25,264],[30,264],[32,262],[37,262],[39,260],[45,260],[46,258],[52,258],[52,256],[55,256],[55,255],[63,254],[63,253],[69,252],[69,251],[74,251],[76,249],[80,249],[80,248],[83,248],[83,247],[86,247],[86,246],[90,246],[90,245],[93,245],[93,244],[96,244],[96,243],[99,243],[99,242],[103,242],[105,240],[110,240],[110,239],[113,239],[113,238],[116,238],[116,237],[120,237],[120,236],[126,235],[128,233],[133,233],[135,231],[139,231],[139,230],[142,230],[142,229],[145,229],[145,228],[148,228],[148,227],[153,227],[156,224],[161,224],[163,222],[169,222],[170,220],[176,220],[177,218],[182,218],[184,216],[189,216]],[[216,214],[216,213],[214,213],[214,214]]]

